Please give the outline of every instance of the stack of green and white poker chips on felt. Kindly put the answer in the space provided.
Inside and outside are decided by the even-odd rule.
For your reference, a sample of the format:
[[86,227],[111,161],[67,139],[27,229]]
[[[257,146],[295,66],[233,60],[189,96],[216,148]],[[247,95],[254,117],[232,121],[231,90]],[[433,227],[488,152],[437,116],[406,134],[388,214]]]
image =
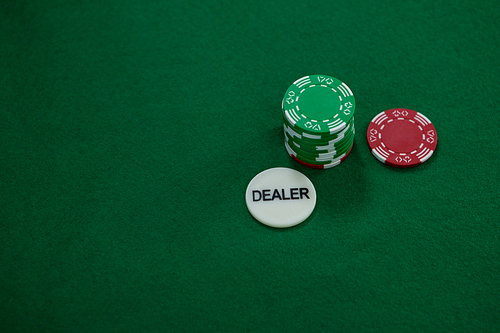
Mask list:
[[295,161],[328,169],[349,155],[356,104],[345,83],[327,75],[304,76],[288,88],[281,105],[285,148]]

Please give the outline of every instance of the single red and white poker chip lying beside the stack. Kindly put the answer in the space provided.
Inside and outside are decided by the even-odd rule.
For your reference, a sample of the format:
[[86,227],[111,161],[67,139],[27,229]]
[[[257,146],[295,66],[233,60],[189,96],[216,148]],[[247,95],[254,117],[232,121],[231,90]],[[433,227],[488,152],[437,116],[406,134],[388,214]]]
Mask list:
[[437,145],[434,125],[423,114],[391,109],[372,119],[366,134],[368,145],[380,162],[410,168],[427,161]]

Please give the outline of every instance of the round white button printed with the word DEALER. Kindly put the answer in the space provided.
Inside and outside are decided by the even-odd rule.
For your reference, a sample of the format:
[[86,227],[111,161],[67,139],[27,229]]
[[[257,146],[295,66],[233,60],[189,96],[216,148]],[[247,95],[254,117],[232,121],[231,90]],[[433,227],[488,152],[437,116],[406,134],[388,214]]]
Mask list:
[[302,173],[289,168],[262,171],[248,184],[245,197],[250,214],[275,228],[303,222],[316,206],[314,185]]

